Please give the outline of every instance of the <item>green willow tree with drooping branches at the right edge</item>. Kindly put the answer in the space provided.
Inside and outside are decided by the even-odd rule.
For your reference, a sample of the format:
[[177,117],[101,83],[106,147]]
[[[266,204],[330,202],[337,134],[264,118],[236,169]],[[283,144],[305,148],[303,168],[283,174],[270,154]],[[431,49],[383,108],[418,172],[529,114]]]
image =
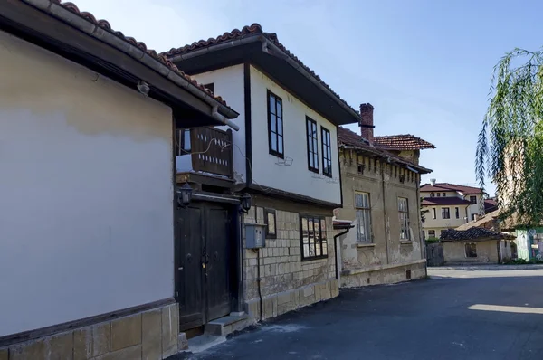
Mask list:
[[497,185],[500,209],[543,224],[543,50],[515,49],[494,67],[475,171]]

